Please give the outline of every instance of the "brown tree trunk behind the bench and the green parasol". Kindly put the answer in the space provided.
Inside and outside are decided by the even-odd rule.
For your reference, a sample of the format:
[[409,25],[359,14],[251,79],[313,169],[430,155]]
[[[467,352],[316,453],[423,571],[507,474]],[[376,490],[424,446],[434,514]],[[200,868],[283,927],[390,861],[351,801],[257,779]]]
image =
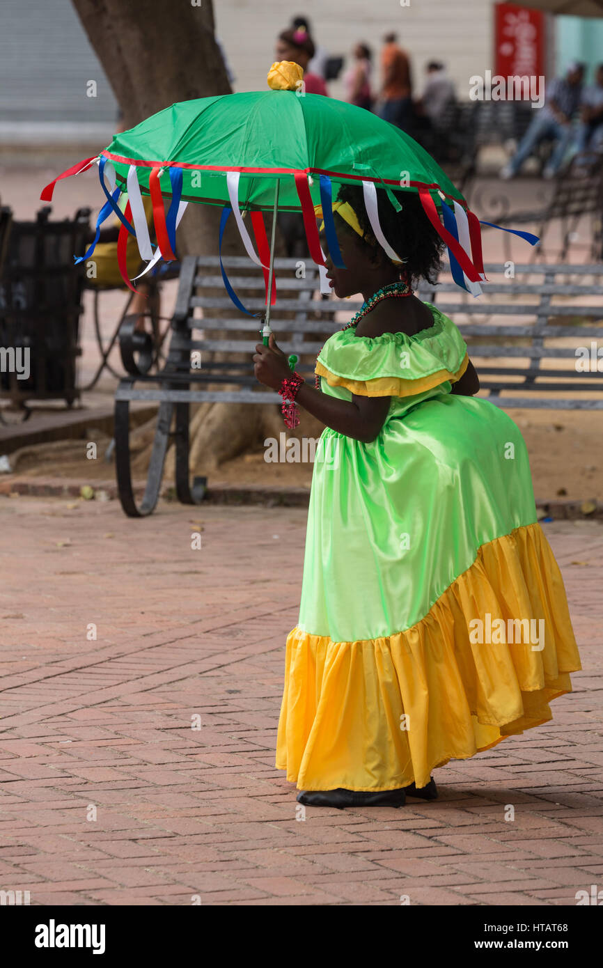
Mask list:
[[[166,5],[160,8],[160,13],[157,0],[72,2],[122,108],[126,129],[175,102],[230,92],[224,61],[214,37],[212,0],[202,0],[200,6],[190,2]],[[266,71],[268,67],[267,64]],[[216,255],[219,220],[218,207],[190,204],[178,229],[180,256]],[[223,253],[244,254],[232,227],[226,231]],[[219,334],[206,331],[206,335],[209,338]],[[246,335],[249,339],[250,334]],[[259,341],[258,334],[256,342]],[[250,346],[250,367],[252,355]],[[215,471],[223,461],[244,452],[250,445],[275,436],[277,427],[284,428],[279,411],[276,405],[193,407],[192,472]],[[302,414],[297,431],[302,427],[306,435],[314,437],[322,429],[319,421],[307,413]],[[136,455],[135,475],[141,475],[148,468],[154,433],[155,418],[131,435]],[[166,474],[173,473],[173,466],[172,446],[166,456]]]

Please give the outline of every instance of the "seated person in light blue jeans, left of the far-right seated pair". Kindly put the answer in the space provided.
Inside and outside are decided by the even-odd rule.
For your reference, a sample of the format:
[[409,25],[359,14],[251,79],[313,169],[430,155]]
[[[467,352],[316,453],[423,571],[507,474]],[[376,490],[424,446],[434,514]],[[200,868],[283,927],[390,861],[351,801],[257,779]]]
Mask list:
[[543,178],[556,176],[574,139],[572,120],[582,100],[584,76],[584,64],[574,62],[570,64],[564,77],[555,77],[547,84],[545,104],[535,108],[535,117],[528,131],[513,158],[500,169],[500,178],[514,178],[540,142],[547,139],[552,139],[555,146],[542,175]]

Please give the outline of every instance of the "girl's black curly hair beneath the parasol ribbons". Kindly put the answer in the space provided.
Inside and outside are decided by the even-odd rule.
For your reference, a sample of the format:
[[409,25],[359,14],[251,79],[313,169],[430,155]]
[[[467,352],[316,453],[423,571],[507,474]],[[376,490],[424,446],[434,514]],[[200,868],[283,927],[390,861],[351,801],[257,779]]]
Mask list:
[[[402,205],[401,212],[395,210],[385,192],[377,189],[377,210],[383,234],[398,255],[407,259],[402,268],[406,270],[410,284],[417,283],[420,279],[435,283],[444,243],[423,211],[415,192],[393,194]],[[337,200],[347,201],[353,208],[364,231],[362,240],[365,245],[373,250],[377,246],[379,252],[382,252],[378,242],[372,244],[375,236],[365,208],[362,186],[342,185]],[[366,236],[370,236],[370,239]]]

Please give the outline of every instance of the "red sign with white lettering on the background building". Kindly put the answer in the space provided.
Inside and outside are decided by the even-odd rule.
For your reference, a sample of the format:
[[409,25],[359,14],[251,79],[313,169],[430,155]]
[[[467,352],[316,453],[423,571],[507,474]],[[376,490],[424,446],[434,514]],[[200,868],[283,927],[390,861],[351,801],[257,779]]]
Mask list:
[[495,73],[503,77],[546,75],[546,18],[540,10],[495,5]]

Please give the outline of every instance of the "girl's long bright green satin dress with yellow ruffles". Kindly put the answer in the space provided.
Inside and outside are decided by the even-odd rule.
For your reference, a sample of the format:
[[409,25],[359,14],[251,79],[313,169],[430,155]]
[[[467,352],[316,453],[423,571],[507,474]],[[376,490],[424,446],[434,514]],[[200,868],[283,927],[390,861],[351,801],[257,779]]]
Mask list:
[[350,327],[317,359],[323,393],[392,399],[371,443],[318,443],[276,757],[299,789],[425,786],[551,719],[582,668],[524,439],[451,394],[467,345],[430,309],[415,336]]

